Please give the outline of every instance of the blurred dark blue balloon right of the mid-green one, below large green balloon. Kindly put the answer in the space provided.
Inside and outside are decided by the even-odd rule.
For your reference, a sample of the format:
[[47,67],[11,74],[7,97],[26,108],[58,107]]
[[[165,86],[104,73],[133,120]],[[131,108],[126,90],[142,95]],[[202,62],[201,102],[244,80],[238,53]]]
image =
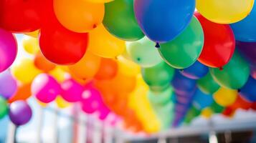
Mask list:
[[196,91],[196,80],[184,77],[179,71],[175,72],[171,84],[174,87],[174,92],[179,95],[188,96]]

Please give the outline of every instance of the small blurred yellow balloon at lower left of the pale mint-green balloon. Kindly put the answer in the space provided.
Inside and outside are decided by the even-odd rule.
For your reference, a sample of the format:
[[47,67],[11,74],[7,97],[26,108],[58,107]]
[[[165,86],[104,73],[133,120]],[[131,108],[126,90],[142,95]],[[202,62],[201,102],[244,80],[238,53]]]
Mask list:
[[137,76],[141,74],[141,67],[135,62],[125,59],[123,56],[118,56],[118,70],[126,76]]

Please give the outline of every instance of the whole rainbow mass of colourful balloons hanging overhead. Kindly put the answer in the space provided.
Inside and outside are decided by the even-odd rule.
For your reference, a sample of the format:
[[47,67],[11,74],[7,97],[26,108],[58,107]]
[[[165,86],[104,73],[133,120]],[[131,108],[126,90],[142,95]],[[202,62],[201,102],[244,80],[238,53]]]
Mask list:
[[[80,104],[99,119],[114,113],[125,129],[148,133],[200,114],[256,109],[255,5],[0,1],[0,117],[9,111],[16,125],[28,122],[31,95],[60,108]],[[17,33],[27,35],[22,44],[32,58],[12,64]]]

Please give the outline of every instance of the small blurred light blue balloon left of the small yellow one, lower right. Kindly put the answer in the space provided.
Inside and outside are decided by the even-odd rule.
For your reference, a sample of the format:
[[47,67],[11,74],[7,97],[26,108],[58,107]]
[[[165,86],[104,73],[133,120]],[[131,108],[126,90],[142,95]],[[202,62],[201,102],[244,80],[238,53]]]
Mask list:
[[212,95],[204,94],[200,89],[197,89],[196,94],[194,96],[193,105],[196,109],[204,109],[209,107],[214,102]]

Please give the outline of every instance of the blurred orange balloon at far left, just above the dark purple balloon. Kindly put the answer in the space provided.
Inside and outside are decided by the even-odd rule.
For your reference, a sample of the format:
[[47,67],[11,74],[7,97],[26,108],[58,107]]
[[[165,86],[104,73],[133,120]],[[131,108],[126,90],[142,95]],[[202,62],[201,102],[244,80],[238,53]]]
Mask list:
[[17,100],[26,100],[31,97],[31,84],[22,84],[18,87],[16,94],[9,99],[9,103],[15,102]]

